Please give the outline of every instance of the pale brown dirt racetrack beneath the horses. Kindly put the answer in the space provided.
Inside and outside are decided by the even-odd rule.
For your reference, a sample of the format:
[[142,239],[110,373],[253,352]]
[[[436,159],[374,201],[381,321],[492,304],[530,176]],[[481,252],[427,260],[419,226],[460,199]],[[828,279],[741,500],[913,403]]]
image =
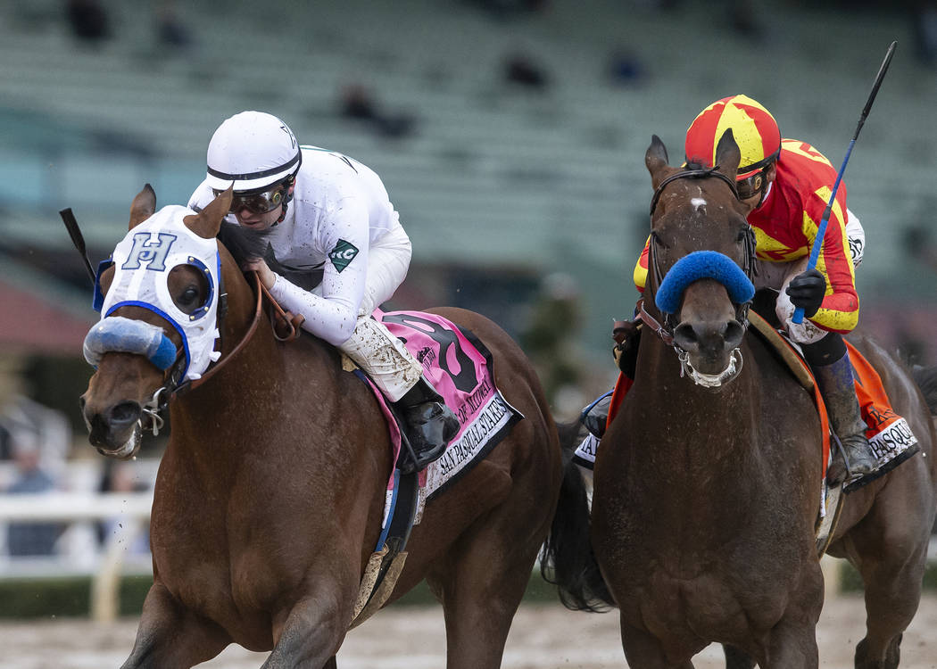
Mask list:
[[[855,643],[864,633],[865,607],[855,595],[826,602],[817,632],[820,666],[853,666]],[[43,620],[0,624],[3,669],[116,668],[133,645],[137,621],[112,625],[88,620]],[[422,633],[421,633],[422,631]],[[258,669],[266,655],[229,647],[212,669]],[[721,649],[708,647],[697,669],[722,667]],[[438,607],[396,606],[350,632],[338,654],[340,669],[442,669],[445,638]],[[621,669],[617,616],[573,613],[559,604],[524,604],[502,664],[506,669]],[[922,602],[901,644],[901,669],[937,669],[937,595]]]

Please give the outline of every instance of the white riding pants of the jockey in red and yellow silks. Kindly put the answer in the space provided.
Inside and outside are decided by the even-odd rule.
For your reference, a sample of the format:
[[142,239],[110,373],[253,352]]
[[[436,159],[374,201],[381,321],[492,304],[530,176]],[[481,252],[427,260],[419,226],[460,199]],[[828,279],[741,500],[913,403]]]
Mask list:
[[[849,222],[846,224],[846,237],[849,240],[849,250],[853,256],[853,268],[857,269],[862,262],[862,256],[865,252],[866,233],[862,229],[859,219],[849,209]],[[807,269],[810,261],[809,256],[791,262],[767,262],[766,260],[757,260],[758,275],[755,276],[755,289],[769,288],[778,290],[778,299],[775,302],[775,313],[778,320],[784,326],[784,330],[791,336],[791,339],[798,344],[814,344],[823,339],[827,333],[818,328],[810,320],[804,319],[797,324],[792,319],[796,306],[791,303],[791,298],[787,294],[787,286],[796,275],[803,273]]]

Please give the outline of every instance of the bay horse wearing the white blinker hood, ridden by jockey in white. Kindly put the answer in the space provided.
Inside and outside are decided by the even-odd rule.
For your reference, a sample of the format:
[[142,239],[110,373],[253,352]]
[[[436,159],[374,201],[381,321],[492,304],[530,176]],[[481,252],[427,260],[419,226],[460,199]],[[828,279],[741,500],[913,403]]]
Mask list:
[[[216,239],[230,203],[229,191],[198,214],[176,207],[188,230],[217,246],[227,309],[208,324],[221,335],[216,366],[169,403],[150,526],[154,583],[124,669],[191,667],[231,643],[271,650],[263,669],[335,667],[380,535],[394,461],[378,400],[343,371],[333,347],[308,334],[285,344],[267,319],[258,323],[243,259]],[[128,235],[155,212],[147,185],[132,203]],[[101,275],[102,293],[113,277],[113,268]],[[195,260],[164,283],[185,313],[209,298]],[[523,419],[429,498],[387,602],[425,579],[442,603],[447,666],[494,669],[556,504],[558,435],[539,380],[508,334],[468,310],[435,313],[489,349],[496,385]],[[156,326],[157,340],[171,340],[170,360],[183,355],[182,337],[153,309],[123,305],[101,322],[112,316],[148,323],[147,332]],[[82,395],[92,444],[132,455],[155,410],[151,398],[167,387],[147,355],[103,352]]]

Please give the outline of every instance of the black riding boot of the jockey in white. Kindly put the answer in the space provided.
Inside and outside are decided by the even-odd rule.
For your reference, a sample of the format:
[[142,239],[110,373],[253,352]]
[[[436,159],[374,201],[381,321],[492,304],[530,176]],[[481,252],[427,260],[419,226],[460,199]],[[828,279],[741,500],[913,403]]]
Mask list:
[[403,416],[410,446],[409,453],[404,447],[400,471],[410,474],[425,468],[445,453],[446,446],[458,432],[459,419],[425,377],[420,377],[416,385],[394,402],[394,407]]

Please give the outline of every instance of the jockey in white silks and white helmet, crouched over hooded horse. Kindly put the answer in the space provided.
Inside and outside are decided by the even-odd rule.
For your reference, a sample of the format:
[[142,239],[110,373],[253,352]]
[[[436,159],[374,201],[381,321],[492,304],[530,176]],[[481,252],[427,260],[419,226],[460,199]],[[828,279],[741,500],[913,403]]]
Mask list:
[[379,176],[348,156],[300,146],[271,114],[241,112],[216,129],[207,176],[189,207],[201,210],[230,186],[229,220],[268,230],[276,261],[314,278],[278,275],[265,260],[245,269],[256,270],[279,305],[305,317],[303,329],[348,355],[400,409],[413,449],[413,461],[401,463],[405,472],[439,458],[458,419],[422,365],[371,317],[403,282],[411,254]]

